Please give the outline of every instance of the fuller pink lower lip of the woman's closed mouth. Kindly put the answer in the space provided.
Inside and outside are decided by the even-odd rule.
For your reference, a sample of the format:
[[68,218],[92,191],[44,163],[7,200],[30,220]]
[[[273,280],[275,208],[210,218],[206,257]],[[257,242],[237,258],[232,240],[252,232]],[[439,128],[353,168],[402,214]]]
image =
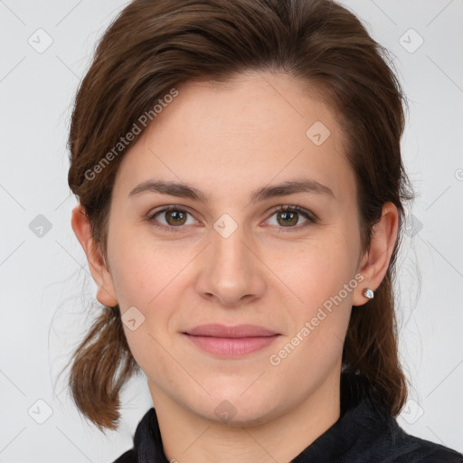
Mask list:
[[267,347],[278,335],[259,337],[213,337],[186,335],[191,341],[210,354],[239,357]]

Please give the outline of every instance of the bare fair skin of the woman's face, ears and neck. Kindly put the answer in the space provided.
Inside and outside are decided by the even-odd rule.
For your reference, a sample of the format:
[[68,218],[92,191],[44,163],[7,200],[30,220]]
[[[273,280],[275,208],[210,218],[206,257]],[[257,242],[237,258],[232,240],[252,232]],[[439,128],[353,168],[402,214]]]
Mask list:
[[[397,209],[384,204],[371,246],[361,250],[345,135],[336,112],[299,81],[250,72],[226,85],[196,81],[177,89],[118,168],[108,267],[80,205],[72,212],[72,229],[98,284],[99,302],[118,303],[122,314],[135,306],[145,317],[136,330],[124,329],[146,373],[166,457],[289,461],[339,418],[351,309],[368,300],[364,288],[375,290],[384,278],[397,239]],[[306,136],[317,120],[331,132],[320,146]],[[261,186],[301,177],[327,186],[333,196],[298,193],[249,202]],[[128,197],[150,179],[193,184],[210,203],[156,193]],[[148,220],[168,205],[188,213],[183,221],[156,215],[158,224],[171,229],[180,222],[176,232]],[[318,222],[296,213],[287,224],[279,205],[299,205]],[[223,213],[238,225],[227,238],[213,228]],[[270,364],[269,356],[355,275],[363,280],[342,303],[278,365]],[[252,354],[220,358],[182,335],[205,323],[254,324],[279,337]],[[214,412],[223,401],[235,412],[231,420]]]

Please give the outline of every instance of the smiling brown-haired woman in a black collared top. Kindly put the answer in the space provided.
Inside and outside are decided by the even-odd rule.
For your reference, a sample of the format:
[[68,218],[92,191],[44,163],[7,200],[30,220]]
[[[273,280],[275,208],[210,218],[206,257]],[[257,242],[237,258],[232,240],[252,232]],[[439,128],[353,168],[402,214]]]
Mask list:
[[[103,311],[73,355],[141,461],[463,461],[406,434],[393,305],[402,90],[328,0],[136,0],[71,119],[72,229]],[[384,55],[384,56],[383,56]]]

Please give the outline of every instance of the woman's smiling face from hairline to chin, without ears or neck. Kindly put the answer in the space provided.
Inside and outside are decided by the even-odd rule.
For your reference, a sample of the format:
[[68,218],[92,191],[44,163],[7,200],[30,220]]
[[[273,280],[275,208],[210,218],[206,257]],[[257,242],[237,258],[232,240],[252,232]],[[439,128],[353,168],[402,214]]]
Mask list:
[[107,290],[155,405],[263,422],[339,377],[365,287],[354,172],[334,112],[285,74],[177,90],[118,168]]

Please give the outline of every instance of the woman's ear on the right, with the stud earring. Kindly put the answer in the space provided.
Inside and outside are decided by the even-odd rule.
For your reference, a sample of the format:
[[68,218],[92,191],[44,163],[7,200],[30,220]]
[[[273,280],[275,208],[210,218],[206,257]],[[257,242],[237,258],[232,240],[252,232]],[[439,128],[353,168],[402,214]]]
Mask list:
[[384,203],[381,219],[373,226],[370,247],[365,251],[358,269],[364,279],[355,288],[353,306],[363,306],[369,300],[364,297],[364,289],[370,288],[374,292],[383,281],[397,241],[398,230],[397,207],[393,203]]

